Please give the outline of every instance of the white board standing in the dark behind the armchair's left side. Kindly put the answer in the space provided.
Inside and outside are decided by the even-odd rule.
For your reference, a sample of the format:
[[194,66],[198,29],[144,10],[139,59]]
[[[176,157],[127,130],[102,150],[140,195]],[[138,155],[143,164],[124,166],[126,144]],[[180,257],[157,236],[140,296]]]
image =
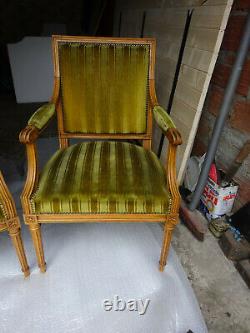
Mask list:
[[24,37],[8,44],[17,103],[46,102],[53,89],[51,37]]

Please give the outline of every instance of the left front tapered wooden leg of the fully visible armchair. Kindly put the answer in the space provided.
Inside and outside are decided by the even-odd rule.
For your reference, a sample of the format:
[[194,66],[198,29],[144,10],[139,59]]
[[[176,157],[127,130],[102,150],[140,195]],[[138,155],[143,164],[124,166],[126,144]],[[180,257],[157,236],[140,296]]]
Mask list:
[[41,227],[39,223],[32,223],[29,225],[31,237],[36,251],[38,266],[42,273],[46,272],[46,263],[44,261],[43,243],[41,236]]

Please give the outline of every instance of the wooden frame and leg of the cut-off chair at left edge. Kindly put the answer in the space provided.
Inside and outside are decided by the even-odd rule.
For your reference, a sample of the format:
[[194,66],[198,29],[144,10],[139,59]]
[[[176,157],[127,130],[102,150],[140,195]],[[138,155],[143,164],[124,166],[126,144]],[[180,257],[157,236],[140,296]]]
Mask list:
[[25,277],[29,276],[29,266],[21,238],[21,225],[10,191],[0,171],[0,201],[6,217],[0,220],[0,231],[8,231]]

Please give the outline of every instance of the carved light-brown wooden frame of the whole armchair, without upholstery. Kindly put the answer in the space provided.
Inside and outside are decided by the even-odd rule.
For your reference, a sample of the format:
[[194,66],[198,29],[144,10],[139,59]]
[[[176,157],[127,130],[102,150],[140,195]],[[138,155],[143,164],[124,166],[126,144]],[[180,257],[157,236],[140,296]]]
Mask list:
[[[145,134],[72,134],[66,133],[63,126],[62,105],[60,100],[60,71],[58,65],[58,43],[59,42],[86,42],[86,43],[124,43],[124,44],[148,44],[150,45],[150,68],[149,68],[149,103],[147,132]],[[56,106],[58,118],[59,143],[61,148],[68,147],[69,139],[139,139],[143,142],[145,149],[151,149],[152,141],[152,109],[158,105],[155,93],[155,40],[151,38],[97,38],[97,37],[74,37],[74,36],[53,36],[53,58],[54,58],[54,91],[51,102]],[[21,201],[24,212],[24,221],[29,226],[34,242],[38,265],[41,272],[46,271],[44,260],[43,245],[41,239],[40,223],[82,223],[82,222],[163,222],[164,236],[160,256],[160,271],[163,271],[166,265],[167,253],[174,226],[178,223],[178,211],[180,205],[180,194],[176,181],[176,149],[181,144],[181,136],[176,128],[169,128],[165,135],[169,141],[166,177],[169,192],[171,194],[170,213],[163,214],[34,214],[30,205],[30,197],[38,183],[38,163],[36,140],[41,131],[35,126],[27,126],[20,133],[20,141],[26,145],[28,159],[28,173],[21,195]]]

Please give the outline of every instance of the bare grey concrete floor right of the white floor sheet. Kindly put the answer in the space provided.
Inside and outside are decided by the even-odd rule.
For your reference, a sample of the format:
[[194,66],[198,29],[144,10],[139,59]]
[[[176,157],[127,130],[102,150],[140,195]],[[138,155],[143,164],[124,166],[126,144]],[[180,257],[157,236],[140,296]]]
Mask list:
[[209,333],[250,332],[250,290],[218,241],[196,240],[179,224],[172,245],[194,289]]

